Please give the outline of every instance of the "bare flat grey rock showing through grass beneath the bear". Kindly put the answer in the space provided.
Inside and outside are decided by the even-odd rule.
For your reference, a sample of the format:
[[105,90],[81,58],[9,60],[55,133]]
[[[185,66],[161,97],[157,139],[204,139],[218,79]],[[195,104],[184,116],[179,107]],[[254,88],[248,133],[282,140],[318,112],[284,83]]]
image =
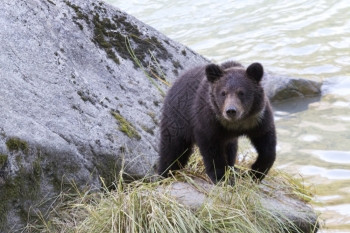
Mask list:
[[[263,209],[282,219],[286,226],[293,226],[291,229],[297,228],[298,232],[316,233],[318,231],[318,216],[311,205],[291,196],[283,189],[279,190],[278,187],[275,187],[276,185],[269,185],[266,181],[264,184],[260,185],[263,187],[261,187],[261,195],[259,194],[258,198]],[[274,187],[271,188],[271,186]],[[191,183],[174,182],[167,187],[159,187],[158,191],[168,193],[179,203],[193,210],[197,210],[206,202],[212,201],[210,192],[214,191],[215,195],[224,193],[220,191],[220,187],[199,178],[193,179]]]

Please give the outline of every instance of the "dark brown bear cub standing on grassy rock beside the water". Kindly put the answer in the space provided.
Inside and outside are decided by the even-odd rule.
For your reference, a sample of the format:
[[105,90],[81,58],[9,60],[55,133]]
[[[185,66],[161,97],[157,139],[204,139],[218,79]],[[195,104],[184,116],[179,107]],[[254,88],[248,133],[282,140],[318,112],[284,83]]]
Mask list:
[[251,175],[262,180],[276,157],[276,132],[270,103],[260,84],[260,63],[247,69],[236,62],[187,71],[169,90],[161,119],[158,173],[184,167],[199,147],[205,169],[216,183],[234,166],[237,139],[247,136],[258,157]]

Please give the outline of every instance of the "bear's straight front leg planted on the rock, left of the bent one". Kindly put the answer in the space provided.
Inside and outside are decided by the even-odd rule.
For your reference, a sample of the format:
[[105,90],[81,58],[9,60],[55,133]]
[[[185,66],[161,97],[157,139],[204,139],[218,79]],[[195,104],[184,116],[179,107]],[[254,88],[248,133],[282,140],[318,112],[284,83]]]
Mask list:
[[205,170],[213,183],[217,183],[225,175],[227,160],[224,155],[224,145],[217,141],[197,139],[197,145],[203,157]]

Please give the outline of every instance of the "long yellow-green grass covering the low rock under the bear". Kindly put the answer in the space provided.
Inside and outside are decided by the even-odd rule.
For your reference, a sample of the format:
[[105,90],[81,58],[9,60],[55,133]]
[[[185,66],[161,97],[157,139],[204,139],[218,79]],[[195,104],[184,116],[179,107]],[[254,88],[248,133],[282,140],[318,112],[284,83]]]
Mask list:
[[[241,161],[241,165],[247,167],[245,163],[246,160]],[[299,181],[276,170],[270,173],[271,176],[265,178],[268,182],[290,190],[291,195],[310,199]],[[229,176],[235,176],[232,170],[227,172],[226,177]],[[62,194],[48,216],[27,226],[27,230],[72,233],[298,232],[290,224],[286,225],[283,216],[276,216],[262,206],[260,196],[264,184],[257,185],[247,177],[236,178],[234,186],[223,181],[210,190],[200,189],[193,181],[209,181],[209,178],[197,152],[186,169],[167,179],[126,183],[120,178],[112,191],[106,188],[103,192]],[[170,195],[169,187],[179,181],[198,188],[208,196],[208,201],[198,209],[178,202]]]

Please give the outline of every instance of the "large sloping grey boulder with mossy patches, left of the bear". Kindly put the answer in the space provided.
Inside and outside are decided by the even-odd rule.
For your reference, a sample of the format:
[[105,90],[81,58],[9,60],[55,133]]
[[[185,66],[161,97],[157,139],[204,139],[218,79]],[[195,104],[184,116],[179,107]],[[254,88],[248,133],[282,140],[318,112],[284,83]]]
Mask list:
[[209,61],[95,0],[4,0],[0,11],[0,232],[73,181],[153,173],[166,90]]

